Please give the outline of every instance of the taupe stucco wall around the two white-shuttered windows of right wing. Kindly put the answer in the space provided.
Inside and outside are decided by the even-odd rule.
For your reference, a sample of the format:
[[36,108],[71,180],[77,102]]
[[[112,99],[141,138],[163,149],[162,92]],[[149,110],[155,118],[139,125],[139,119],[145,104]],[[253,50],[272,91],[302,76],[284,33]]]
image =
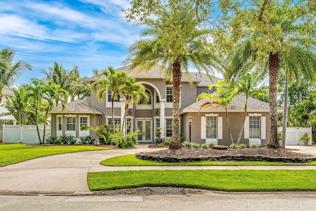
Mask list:
[[[228,127],[225,119],[225,112],[213,112],[214,114],[218,113],[219,117],[223,117],[223,139],[218,140],[219,145],[230,145],[230,137],[228,133]],[[253,112],[249,112],[253,113]],[[249,114],[248,113],[248,114]],[[269,142],[269,134],[270,134],[270,127],[269,127],[269,112],[257,112],[262,113],[262,117],[266,117],[266,139],[261,139],[261,146],[265,146]],[[181,131],[185,134],[186,140],[189,141],[189,122],[188,117],[192,117],[192,124],[191,124],[191,141],[197,143],[205,143],[205,139],[201,139],[201,117],[204,116],[204,113],[200,113],[198,116],[197,113],[186,113],[182,115],[181,121]],[[237,142],[239,130],[242,123],[243,112],[229,112],[229,123],[230,129],[232,132],[232,136],[235,142]],[[242,131],[240,143],[249,144],[249,139],[244,139],[244,134]]]

